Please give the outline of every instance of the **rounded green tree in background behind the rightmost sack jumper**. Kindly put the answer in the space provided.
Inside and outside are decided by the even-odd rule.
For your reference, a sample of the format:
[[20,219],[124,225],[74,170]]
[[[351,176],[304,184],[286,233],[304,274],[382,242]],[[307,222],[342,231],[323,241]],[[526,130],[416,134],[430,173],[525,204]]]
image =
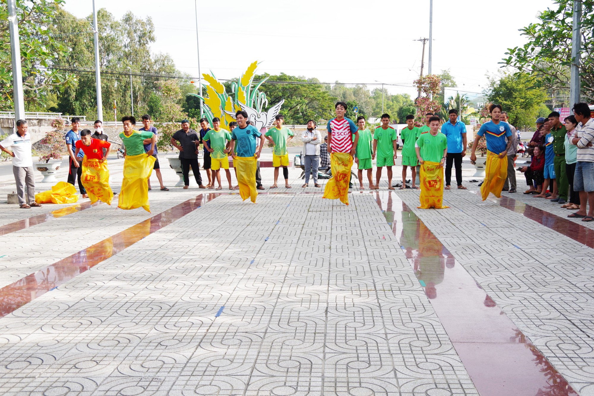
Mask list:
[[500,73],[489,78],[489,102],[503,106],[511,124],[519,128],[532,127],[547,99],[536,79],[526,73]]

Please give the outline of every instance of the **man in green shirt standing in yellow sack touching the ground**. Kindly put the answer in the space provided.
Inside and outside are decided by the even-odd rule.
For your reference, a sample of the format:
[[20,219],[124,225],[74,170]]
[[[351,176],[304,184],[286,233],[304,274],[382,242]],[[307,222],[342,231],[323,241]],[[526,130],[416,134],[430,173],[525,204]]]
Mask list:
[[428,132],[422,132],[415,143],[416,158],[421,164],[421,206],[419,209],[445,209],[444,162],[447,155],[447,137],[440,133],[440,118],[429,118]]

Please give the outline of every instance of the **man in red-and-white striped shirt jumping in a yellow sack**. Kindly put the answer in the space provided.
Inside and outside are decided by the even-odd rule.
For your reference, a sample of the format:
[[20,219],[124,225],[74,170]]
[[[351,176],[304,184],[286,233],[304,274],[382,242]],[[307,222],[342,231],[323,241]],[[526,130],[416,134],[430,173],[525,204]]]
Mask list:
[[336,118],[328,121],[326,126],[332,177],[326,183],[323,196],[327,199],[338,198],[345,205],[349,205],[350,168],[359,143],[359,127],[345,117],[347,107],[345,102],[336,103]]

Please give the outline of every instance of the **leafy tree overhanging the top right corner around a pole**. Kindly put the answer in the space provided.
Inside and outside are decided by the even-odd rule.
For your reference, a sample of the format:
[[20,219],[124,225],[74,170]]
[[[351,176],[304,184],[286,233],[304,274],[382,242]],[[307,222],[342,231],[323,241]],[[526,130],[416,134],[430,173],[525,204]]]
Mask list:
[[[594,2],[582,1],[581,93],[594,100]],[[557,0],[557,8],[538,15],[539,22],[520,29],[528,42],[508,49],[501,64],[516,68],[518,74],[538,77],[536,86],[548,89],[568,89],[573,33],[573,0]]]

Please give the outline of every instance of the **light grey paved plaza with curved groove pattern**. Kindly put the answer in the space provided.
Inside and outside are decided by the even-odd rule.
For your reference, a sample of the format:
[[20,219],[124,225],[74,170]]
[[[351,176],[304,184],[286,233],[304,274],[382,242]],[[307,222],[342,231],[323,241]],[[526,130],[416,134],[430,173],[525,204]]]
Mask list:
[[[118,190],[121,164],[110,168]],[[172,186],[175,174],[163,174]],[[265,186],[271,174],[263,169]],[[592,249],[549,228],[555,222],[522,215],[520,200],[566,215],[558,206],[519,194],[510,210],[497,199],[481,202],[476,184],[465,183],[469,191],[445,193],[449,209],[421,210],[418,191],[388,192],[384,182],[380,193],[355,187],[346,207],[321,199],[320,189],[299,188],[298,175],[290,172],[292,189],[261,194],[257,205],[226,190],[153,190],[151,213],[67,209],[0,236],[2,309],[18,293],[34,293],[32,285],[9,286],[27,275],[49,290],[0,318],[0,393],[575,394],[558,386],[567,380],[594,395]],[[388,198],[391,215],[378,206]],[[201,206],[156,228],[146,221],[188,200]],[[0,224],[62,207],[7,205]],[[441,271],[434,274],[441,279],[463,269],[536,348],[535,360],[558,370],[544,366],[551,386],[494,392],[473,380],[469,373],[484,362],[463,351],[478,344],[456,336],[466,323],[452,325],[438,304],[447,279],[435,285],[435,299],[401,248],[416,238],[421,252],[429,241],[400,232],[405,209],[447,252],[429,272]],[[97,244],[139,228],[141,238],[125,249]],[[48,269],[96,256],[106,258],[80,274],[72,265]],[[472,294],[467,287],[460,284],[462,294]],[[472,313],[461,320],[471,327]]]

